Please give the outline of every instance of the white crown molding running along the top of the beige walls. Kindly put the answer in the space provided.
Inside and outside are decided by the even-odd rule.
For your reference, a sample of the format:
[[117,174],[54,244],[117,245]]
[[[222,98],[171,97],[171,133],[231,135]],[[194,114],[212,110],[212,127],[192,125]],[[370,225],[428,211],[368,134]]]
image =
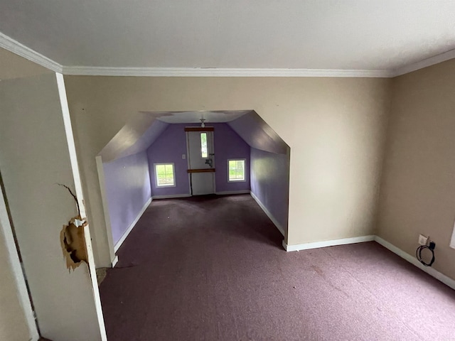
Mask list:
[[0,32],[0,48],[31,60],[63,75],[134,77],[377,77],[405,75],[424,67],[455,58],[455,49],[398,67],[394,70],[334,70],[289,68],[216,68],[216,67],[94,67],[64,66]]

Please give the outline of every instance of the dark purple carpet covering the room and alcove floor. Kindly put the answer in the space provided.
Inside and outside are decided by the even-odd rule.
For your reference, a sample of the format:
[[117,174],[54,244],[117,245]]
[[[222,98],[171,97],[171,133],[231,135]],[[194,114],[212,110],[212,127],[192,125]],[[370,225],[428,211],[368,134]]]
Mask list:
[[455,340],[455,291],[379,244],[281,244],[250,195],[152,202],[100,286],[108,340]]

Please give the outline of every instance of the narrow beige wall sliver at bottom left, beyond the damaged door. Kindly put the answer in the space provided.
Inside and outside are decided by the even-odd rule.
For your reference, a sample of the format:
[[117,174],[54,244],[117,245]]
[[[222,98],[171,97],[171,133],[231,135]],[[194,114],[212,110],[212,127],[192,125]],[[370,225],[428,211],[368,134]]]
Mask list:
[[[3,200],[0,198],[0,200]],[[0,222],[0,340],[24,341],[31,339]]]

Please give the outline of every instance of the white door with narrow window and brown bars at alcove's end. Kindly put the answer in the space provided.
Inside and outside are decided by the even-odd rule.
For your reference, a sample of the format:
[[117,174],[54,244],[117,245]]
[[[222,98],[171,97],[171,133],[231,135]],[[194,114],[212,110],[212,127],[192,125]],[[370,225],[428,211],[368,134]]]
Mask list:
[[206,127],[206,130],[187,128],[186,130],[191,194],[213,194],[215,193],[213,128]]

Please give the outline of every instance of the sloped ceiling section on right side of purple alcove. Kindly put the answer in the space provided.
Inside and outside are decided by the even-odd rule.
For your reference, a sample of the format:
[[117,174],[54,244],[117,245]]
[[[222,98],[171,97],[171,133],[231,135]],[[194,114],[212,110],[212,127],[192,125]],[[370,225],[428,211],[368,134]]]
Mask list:
[[270,153],[287,153],[289,146],[286,142],[254,110],[228,124],[252,148]]

